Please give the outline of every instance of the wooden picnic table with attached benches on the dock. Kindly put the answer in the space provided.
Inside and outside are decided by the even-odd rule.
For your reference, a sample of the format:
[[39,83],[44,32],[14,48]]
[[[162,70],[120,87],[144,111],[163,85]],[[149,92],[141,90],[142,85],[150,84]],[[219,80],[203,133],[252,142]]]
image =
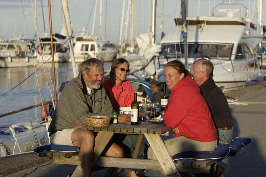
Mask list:
[[[164,170],[168,176],[181,176],[179,172],[214,173],[216,161],[212,159],[179,159],[174,162],[172,156],[165,147],[163,140],[161,139],[161,136],[169,136],[169,131],[172,130],[171,127],[168,127],[165,124],[142,123],[139,125],[128,125],[118,123],[110,124],[107,127],[83,126],[82,129],[98,132],[95,137],[93,164],[94,167],[113,167],[109,168],[106,176],[116,176],[122,168]],[[101,156],[114,133],[139,135],[132,158]],[[152,150],[155,152],[158,160],[138,158],[144,136],[146,137]],[[53,163],[78,165],[72,176],[82,176],[80,157],[78,154],[79,151],[39,152],[39,156],[50,157],[53,159]]]

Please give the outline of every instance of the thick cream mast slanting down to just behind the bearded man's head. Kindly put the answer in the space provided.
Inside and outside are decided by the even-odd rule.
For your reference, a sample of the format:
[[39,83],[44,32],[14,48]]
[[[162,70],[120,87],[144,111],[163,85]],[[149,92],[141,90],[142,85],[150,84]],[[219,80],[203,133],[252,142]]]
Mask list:
[[[65,20],[66,36],[70,38],[70,36],[73,34],[72,34],[72,25],[71,25],[70,16],[69,16],[69,10],[68,10],[68,1],[61,0],[61,2],[62,2],[62,9],[63,9],[64,20]],[[72,36],[69,40],[70,40],[69,49],[70,49],[70,58],[71,58],[72,69],[73,69],[73,77],[77,77],[77,69],[75,65]]]

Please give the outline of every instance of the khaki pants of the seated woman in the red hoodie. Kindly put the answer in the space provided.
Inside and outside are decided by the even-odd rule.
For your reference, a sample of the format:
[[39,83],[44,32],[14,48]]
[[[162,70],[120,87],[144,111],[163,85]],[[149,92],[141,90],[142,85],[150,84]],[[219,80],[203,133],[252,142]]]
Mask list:
[[[174,137],[164,141],[171,156],[185,151],[213,151],[217,147],[217,140],[200,142],[184,136]],[[157,160],[151,146],[148,149],[148,159]]]

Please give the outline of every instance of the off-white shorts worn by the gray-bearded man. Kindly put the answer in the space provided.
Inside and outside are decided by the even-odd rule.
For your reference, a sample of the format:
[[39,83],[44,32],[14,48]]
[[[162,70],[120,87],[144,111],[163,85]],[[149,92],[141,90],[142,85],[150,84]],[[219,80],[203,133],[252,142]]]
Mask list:
[[51,144],[61,144],[61,145],[69,145],[74,146],[71,140],[71,135],[76,130],[74,129],[64,129],[62,131],[58,130],[54,134],[50,136]]

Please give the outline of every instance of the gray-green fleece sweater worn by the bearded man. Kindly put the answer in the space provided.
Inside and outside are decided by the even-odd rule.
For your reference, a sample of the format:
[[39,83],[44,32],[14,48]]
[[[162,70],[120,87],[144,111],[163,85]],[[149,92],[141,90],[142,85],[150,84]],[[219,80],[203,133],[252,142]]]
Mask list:
[[48,131],[51,135],[57,130],[86,125],[85,117],[90,115],[112,117],[112,111],[112,104],[103,86],[92,89],[89,95],[86,84],[79,74],[65,85]]

